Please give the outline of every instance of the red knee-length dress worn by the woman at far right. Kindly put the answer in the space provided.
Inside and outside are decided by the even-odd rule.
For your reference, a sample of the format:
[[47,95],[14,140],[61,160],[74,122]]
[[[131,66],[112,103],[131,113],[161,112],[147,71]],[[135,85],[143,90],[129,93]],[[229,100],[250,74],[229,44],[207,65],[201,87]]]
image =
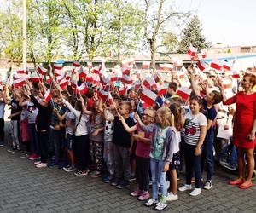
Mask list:
[[256,119],[256,92],[251,95],[238,92],[224,102],[225,105],[233,103],[236,103],[233,142],[236,147],[253,148],[256,138],[254,141],[249,141],[247,135],[253,130],[253,121]]

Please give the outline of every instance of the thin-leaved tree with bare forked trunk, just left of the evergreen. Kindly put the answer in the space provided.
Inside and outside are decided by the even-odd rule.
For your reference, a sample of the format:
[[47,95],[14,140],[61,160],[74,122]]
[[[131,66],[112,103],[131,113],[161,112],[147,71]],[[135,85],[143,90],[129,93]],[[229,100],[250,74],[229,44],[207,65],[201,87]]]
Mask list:
[[144,0],[144,3],[143,31],[150,47],[151,66],[153,72],[155,72],[155,57],[156,51],[159,48],[160,32],[171,22],[177,25],[179,21],[187,17],[188,13],[177,11],[174,5],[168,5],[166,0]]

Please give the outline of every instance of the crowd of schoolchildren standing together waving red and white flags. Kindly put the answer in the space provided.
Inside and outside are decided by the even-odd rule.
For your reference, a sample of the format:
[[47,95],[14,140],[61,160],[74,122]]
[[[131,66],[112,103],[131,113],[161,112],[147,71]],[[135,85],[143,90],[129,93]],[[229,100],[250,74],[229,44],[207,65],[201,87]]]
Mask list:
[[[131,196],[163,210],[166,201],[178,199],[177,189],[199,195],[205,169],[203,187],[211,189],[213,152],[217,157],[223,154],[216,146],[216,135],[221,128],[232,129],[236,110],[222,104],[218,87],[224,85],[216,75],[209,72],[202,81],[193,67],[188,73],[192,89],[188,100],[177,95],[181,85],[173,78],[166,95],[159,95],[148,107],[139,99],[141,89],[134,87],[119,95],[112,85],[109,91],[113,100],[104,101],[96,85],[81,95],[70,86],[62,89],[54,76],[50,84],[30,80],[21,87],[6,84],[0,93],[0,145],[4,145],[3,115],[8,104],[12,127],[9,152],[20,151],[20,157],[27,155],[37,168],[58,166],[76,176],[102,176],[104,182],[119,189],[130,185],[136,171],[137,189]],[[239,89],[239,81],[233,81]],[[83,82],[80,79],[80,84]],[[51,98],[46,101],[48,89]],[[235,95],[234,87],[230,89]],[[253,113],[255,116],[255,110]],[[218,122],[221,119],[225,119],[222,126]],[[230,142],[230,136],[218,138]],[[232,164],[236,166],[236,161]],[[186,180],[177,188],[182,165]]]

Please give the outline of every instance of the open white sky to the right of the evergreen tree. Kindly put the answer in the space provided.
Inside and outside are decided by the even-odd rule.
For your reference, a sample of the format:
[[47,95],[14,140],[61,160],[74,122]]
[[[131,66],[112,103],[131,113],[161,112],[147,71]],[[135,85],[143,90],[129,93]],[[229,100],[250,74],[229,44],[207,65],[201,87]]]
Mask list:
[[203,34],[213,45],[256,45],[256,0],[175,0],[175,3],[178,8],[196,11]]

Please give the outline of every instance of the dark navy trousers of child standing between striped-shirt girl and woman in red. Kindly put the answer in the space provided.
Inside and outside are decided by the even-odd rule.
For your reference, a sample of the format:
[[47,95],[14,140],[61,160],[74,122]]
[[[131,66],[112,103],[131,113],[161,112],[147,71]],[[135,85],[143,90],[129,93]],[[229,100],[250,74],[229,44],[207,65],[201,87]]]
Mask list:
[[212,180],[212,176],[214,174],[213,141],[214,132],[212,131],[212,133],[207,133],[201,153],[201,171],[203,172],[206,163],[207,181]]

